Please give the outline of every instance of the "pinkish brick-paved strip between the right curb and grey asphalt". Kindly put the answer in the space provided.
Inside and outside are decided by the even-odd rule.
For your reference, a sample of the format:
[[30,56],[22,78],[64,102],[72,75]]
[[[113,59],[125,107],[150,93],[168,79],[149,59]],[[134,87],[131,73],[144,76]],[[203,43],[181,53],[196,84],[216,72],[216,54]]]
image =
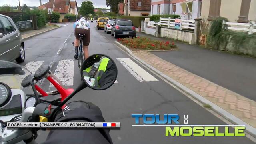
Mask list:
[[133,50],[132,53],[170,78],[256,128],[255,101],[192,74],[150,52]]

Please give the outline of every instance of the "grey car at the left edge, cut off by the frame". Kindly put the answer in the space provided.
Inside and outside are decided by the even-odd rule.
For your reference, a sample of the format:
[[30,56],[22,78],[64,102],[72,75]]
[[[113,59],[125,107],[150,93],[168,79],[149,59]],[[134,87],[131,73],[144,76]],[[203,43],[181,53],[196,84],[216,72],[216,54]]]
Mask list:
[[0,60],[25,60],[24,42],[12,18],[0,14]]

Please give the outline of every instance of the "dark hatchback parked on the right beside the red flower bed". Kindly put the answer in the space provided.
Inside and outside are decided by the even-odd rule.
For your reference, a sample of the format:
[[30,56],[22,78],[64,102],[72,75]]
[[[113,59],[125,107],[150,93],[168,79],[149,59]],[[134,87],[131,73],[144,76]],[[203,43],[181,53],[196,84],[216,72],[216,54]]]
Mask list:
[[116,20],[111,29],[111,35],[114,38],[118,38],[118,36],[136,37],[136,29],[130,20]]

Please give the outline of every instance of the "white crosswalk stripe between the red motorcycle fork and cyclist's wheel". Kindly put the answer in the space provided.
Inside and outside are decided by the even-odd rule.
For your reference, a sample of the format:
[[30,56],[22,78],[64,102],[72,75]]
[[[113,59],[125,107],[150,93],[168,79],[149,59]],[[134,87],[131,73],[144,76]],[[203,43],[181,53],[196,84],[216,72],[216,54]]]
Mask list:
[[[74,60],[60,60],[54,75],[64,86],[72,86],[74,83]],[[50,84],[50,87],[52,86]]]

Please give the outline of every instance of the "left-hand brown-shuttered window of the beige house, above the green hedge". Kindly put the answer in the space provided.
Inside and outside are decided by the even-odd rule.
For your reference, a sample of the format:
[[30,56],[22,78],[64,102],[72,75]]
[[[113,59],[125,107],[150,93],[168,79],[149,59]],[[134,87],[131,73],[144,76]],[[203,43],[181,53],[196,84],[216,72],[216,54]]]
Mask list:
[[220,17],[220,5],[221,0],[210,0],[208,20],[213,20],[213,18]]

